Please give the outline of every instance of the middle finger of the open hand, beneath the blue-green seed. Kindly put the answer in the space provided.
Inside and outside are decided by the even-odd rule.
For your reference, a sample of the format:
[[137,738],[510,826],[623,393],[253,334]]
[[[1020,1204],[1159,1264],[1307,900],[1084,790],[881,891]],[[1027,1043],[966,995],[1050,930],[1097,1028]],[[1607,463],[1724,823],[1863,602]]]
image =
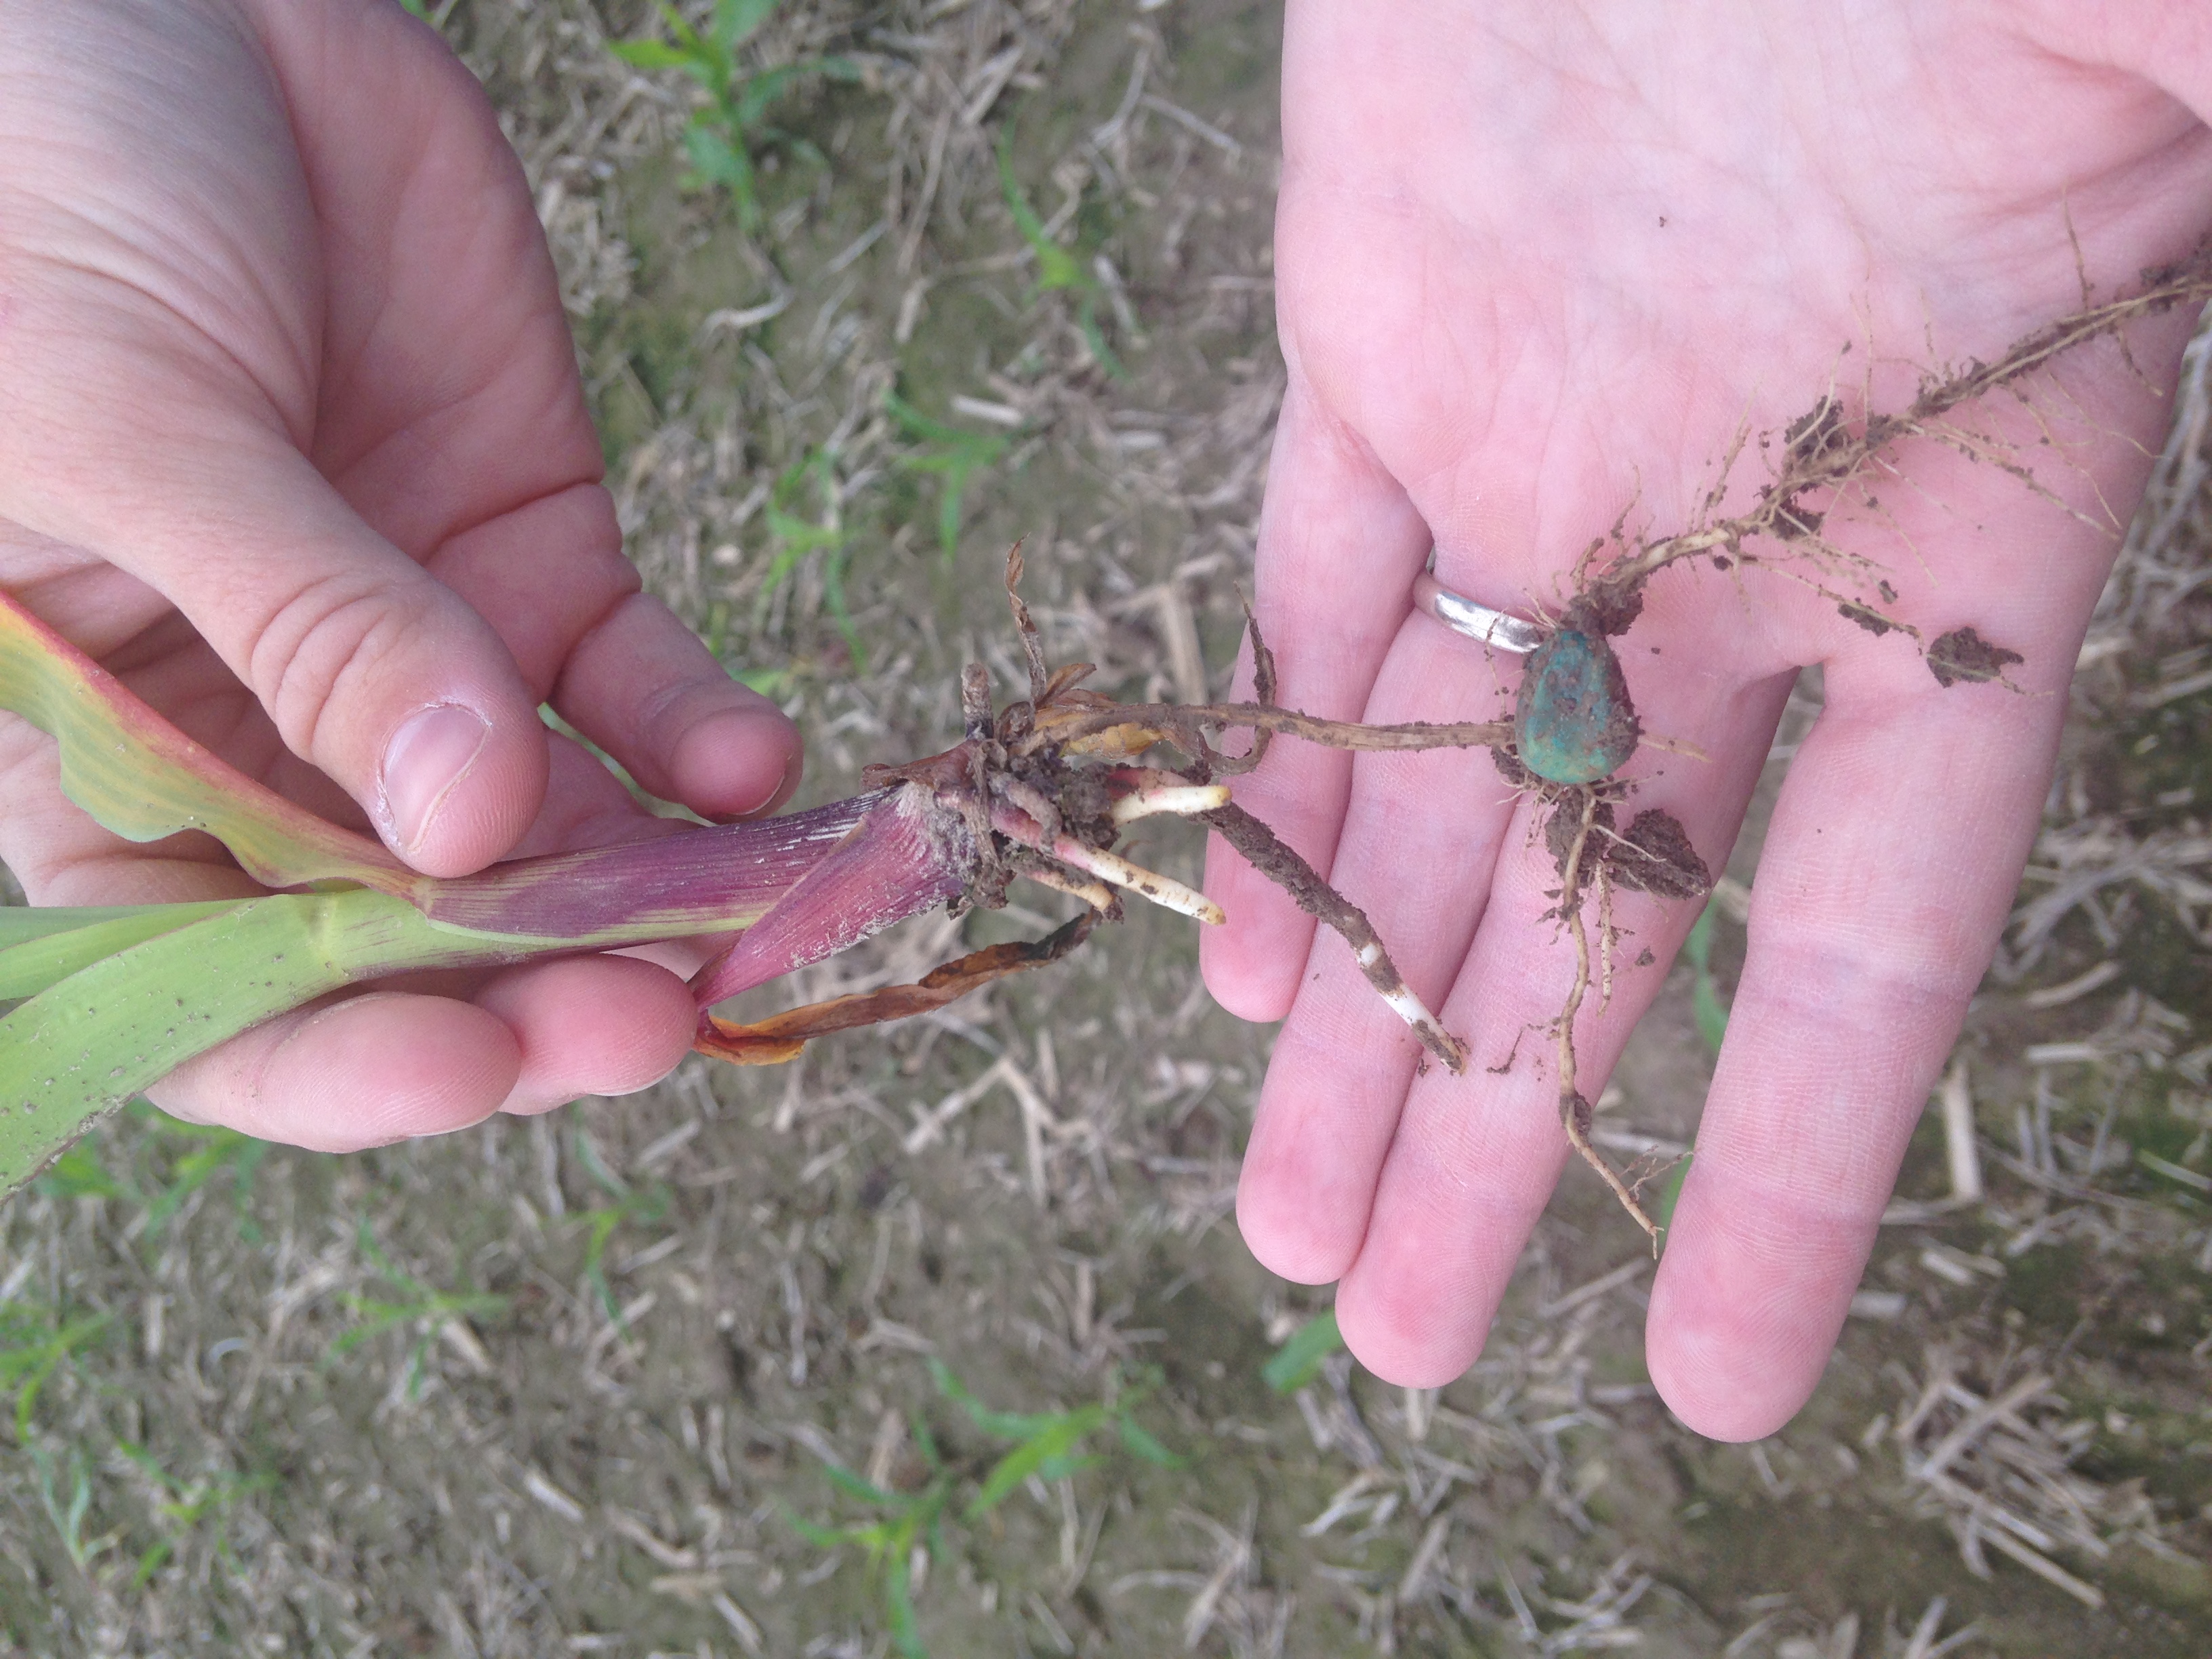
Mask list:
[[[1679,628],[1672,637],[1697,635]],[[1708,867],[1719,867],[1743,823],[1792,675],[1745,684],[1686,668],[1677,648],[1668,657],[1674,668],[1632,670],[1646,723],[1714,759],[1641,752],[1628,768],[1639,787],[1624,814],[1672,812]],[[1464,1077],[1431,1068],[1413,1082],[1367,1237],[1336,1292],[1352,1352],[1391,1383],[1431,1387],[1473,1363],[1566,1161],[1553,1029],[1575,978],[1575,947],[1553,916],[1557,891],[1542,814],[1524,803],[1504,834],[1489,909],[1442,1011],[1444,1024],[1473,1044],[1473,1064]],[[1593,984],[1575,1020],[1584,1097],[1597,1097],[1697,909],[1615,894],[1613,920],[1626,933],[1613,953],[1613,998],[1606,1004]],[[1586,929],[1597,980],[1604,960],[1595,916],[1586,916]]]

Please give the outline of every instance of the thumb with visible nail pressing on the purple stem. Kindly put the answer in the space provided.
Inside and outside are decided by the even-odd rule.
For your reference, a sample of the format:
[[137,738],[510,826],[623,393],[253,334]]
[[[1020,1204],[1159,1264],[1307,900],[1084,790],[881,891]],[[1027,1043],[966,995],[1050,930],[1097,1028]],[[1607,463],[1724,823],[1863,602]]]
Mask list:
[[164,438],[38,489],[35,529],[175,604],[409,865],[458,876],[513,847],[546,737],[491,626],[259,420]]

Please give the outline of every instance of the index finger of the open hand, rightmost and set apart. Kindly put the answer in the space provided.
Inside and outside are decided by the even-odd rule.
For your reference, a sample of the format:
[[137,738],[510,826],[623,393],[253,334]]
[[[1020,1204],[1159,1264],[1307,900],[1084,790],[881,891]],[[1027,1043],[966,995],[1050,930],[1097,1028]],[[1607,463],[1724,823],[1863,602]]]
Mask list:
[[1701,1433],[1772,1433],[1820,1378],[2035,836],[2066,708],[2051,679],[1942,690],[1909,664],[1851,697],[1829,672],[1652,1287],[1652,1380]]

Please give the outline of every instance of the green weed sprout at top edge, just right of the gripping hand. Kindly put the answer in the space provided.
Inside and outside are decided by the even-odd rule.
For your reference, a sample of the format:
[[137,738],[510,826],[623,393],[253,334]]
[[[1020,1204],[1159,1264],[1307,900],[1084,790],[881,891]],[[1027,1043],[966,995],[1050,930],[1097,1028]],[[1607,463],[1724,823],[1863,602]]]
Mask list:
[[675,42],[615,40],[608,51],[633,69],[681,69],[706,88],[708,106],[684,128],[684,153],[692,164],[686,184],[719,184],[737,204],[739,226],[752,230],[761,221],[752,153],[757,144],[783,137],[763,124],[770,106],[801,80],[854,82],[860,80],[860,69],[849,58],[743,69],[739,49],[774,15],[776,0],[714,0],[714,20],[706,31],[692,29],[668,0],[659,0],[659,11]]

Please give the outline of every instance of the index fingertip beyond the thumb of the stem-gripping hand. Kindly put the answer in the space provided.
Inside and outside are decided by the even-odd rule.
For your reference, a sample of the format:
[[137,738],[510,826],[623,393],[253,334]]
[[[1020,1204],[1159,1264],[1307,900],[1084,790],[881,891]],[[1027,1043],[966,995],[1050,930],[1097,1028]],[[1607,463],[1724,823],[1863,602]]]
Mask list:
[[770,812],[799,787],[799,728],[650,595],[577,641],[553,706],[646,790],[710,818]]

